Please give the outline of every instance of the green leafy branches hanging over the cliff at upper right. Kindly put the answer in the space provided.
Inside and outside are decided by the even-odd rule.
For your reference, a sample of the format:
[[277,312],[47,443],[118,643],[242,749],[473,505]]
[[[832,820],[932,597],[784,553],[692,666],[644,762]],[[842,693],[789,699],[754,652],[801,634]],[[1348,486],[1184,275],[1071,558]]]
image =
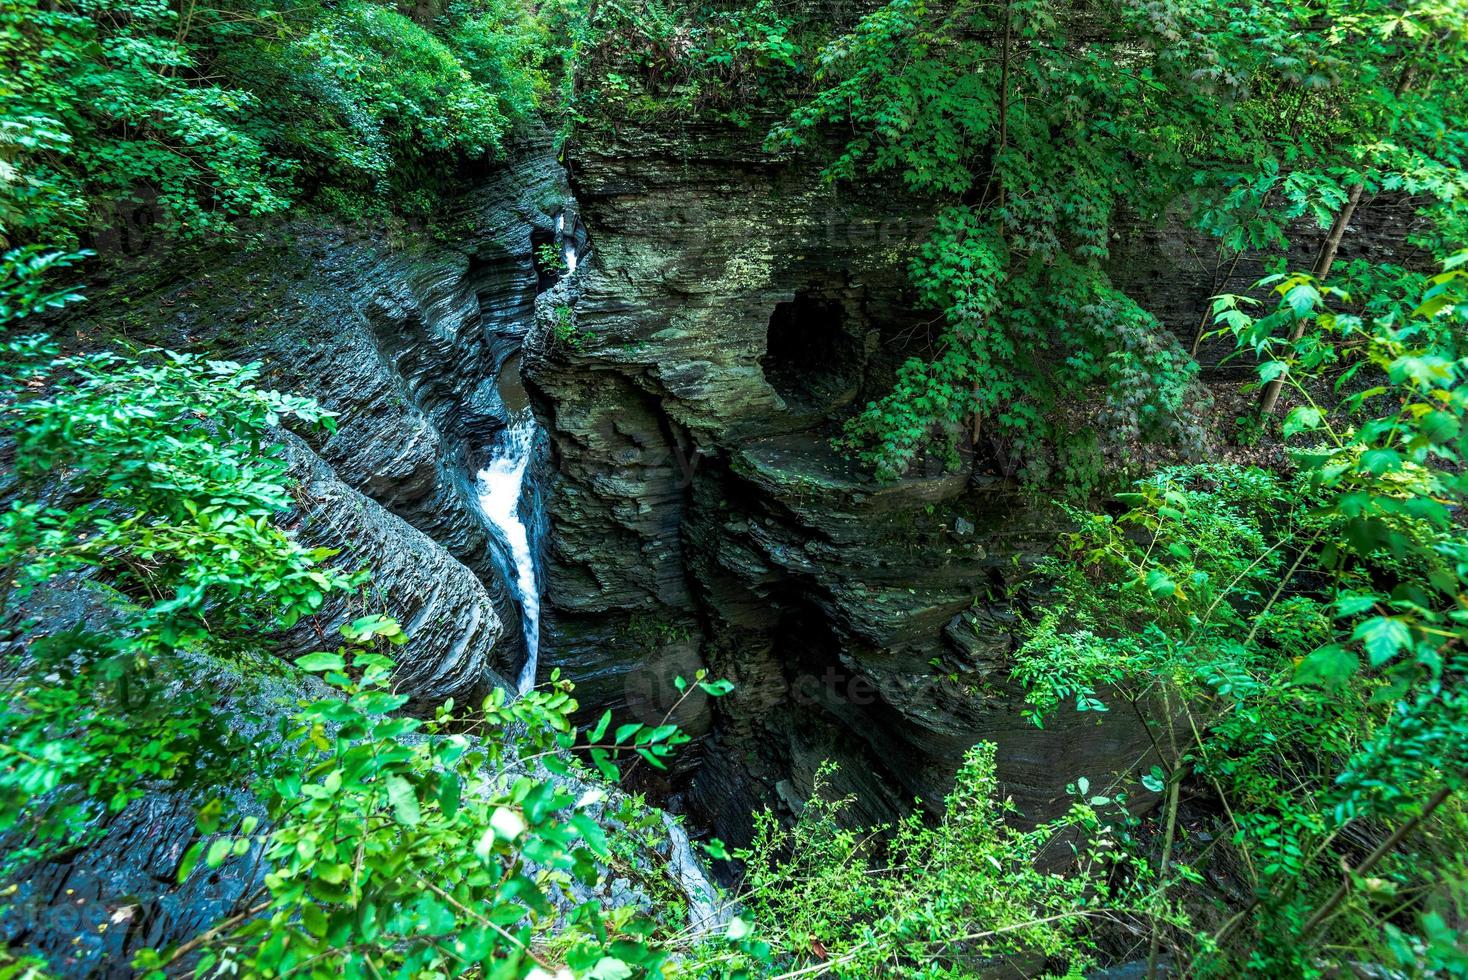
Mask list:
[[[1333,249],[1365,189],[1405,191],[1430,198],[1440,248],[1468,188],[1462,29],[1456,3],[894,0],[865,16],[771,139],[849,126],[831,179],[890,173],[941,204],[913,277],[944,326],[847,443],[884,475],[985,436],[1041,477],[1045,446],[1097,436],[1196,447],[1189,358],[1107,274],[1116,220],[1183,207],[1236,255],[1286,248],[1307,219]],[[1095,399],[1098,417],[1073,411]]]

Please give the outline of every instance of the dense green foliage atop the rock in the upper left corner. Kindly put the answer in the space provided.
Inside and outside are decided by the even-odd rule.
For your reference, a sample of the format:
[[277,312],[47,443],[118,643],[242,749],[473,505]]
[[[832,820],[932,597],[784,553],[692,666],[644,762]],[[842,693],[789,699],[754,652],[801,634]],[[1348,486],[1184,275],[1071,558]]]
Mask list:
[[367,1],[7,0],[0,23],[12,246],[137,235],[139,208],[160,232],[220,233],[317,191],[421,208],[540,85],[537,29],[508,1],[421,25]]

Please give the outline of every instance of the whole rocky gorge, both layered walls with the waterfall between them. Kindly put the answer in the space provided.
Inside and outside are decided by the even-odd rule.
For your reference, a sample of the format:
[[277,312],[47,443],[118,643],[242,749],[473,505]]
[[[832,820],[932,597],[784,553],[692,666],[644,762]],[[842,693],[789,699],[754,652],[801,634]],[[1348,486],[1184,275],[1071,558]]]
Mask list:
[[[998,745],[1029,822],[1078,778],[1151,764],[1133,719],[1041,729],[1009,679],[1013,587],[1060,527],[1042,503],[972,458],[878,483],[829,446],[829,420],[885,383],[894,337],[926,315],[904,279],[925,233],[907,202],[832,194],[746,131],[605,139],[568,153],[570,185],[545,144],[523,147],[455,202],[452,238],[385,251],[301,224],[198,279],[161,276],[153,312],[129,314],[134,336],[261,359],[273,384],[339,412],[330,439],[292,450],[310,474],[295,521],[373,569],[414,641],[401,690],[432,704],[556,668],[586,719],[658,723],[678,703],[699,741],[647,789],[734,844],[762,807],[793,819],[826,760],[860,823],[941,801],[978,741]],[[1148,235],[1124,248],[1155,248]],[[1160,302],[1189,276],[1204,270],[1169,266]],[[1183,323],[1207,290],[1192,295]],[[98,293],[76,334],[112,302]],[[323,610],[288,648],[351,615]],[[699,669],[734,694],[680,701],[674,678]],[[160,802],[125,811],[88,870],[32,880],[31,901],[84,893],[107,914],[139,895],[145,930],[113,933],[113,957],[179,929],[173,915],[198,921],[219,883],[175,898],[138,877],[132,836],[182,849]],[[9,935],[50,948],[48,927]]]

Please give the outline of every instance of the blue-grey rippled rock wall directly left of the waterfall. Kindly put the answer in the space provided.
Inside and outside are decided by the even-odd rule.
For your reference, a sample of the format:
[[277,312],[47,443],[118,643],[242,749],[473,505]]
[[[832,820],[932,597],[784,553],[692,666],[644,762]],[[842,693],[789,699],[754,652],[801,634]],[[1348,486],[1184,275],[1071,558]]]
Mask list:
[[[145,258],[70,324],[82,339],[122,333],[261,361],[266,384],[338,414],[330,436],[302,433],[324,467],[308,467],[321,484],[305,505],[310,534],[405,593],[389,604],[424,634],[414,635],[423,687],[404,679],[426,700],[483,691],[486,670],[512,675],[524,653],[509,559],[474,474],[506,423],[496,379],[545,286],[534,246],[555,239],[568,207],[549,142],[531,139],[424,227],[302,220],[182,267]],[[333,480],[385,513],[326,489]],[[388,515],[421,535],[395,543]]]

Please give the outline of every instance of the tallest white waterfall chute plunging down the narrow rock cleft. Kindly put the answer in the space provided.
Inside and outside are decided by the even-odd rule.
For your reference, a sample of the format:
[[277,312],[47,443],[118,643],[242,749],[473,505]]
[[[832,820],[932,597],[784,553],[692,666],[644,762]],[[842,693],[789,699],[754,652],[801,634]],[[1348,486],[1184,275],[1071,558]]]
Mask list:
[[540,587],[536,582],[530,533],[520,518],[520,491],[526,483],[534,442],[536,417],[528,406],[521,408],[495,443],[493,459],[479,471],[479,506],[495,525],[499,540],[509,549],[511,560],[515,563],[520,621],[526,629],[526,666],[520,669],[517,684],[521,694],[536,685],[536,662],[540,656]]

